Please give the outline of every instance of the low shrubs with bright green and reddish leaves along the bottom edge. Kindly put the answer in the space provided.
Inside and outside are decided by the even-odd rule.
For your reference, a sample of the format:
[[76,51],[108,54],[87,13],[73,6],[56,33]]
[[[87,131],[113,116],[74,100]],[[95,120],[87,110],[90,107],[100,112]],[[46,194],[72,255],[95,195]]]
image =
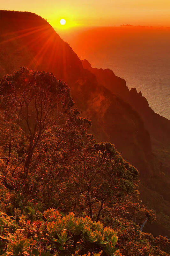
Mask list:
[[4,255],[121,255],[115,247],[115,231],[88,216],[76,218],[71,212],[62,217],[55,209],[48,209],[33,222],[21,215],[17,224],[2,212],[0,221]]

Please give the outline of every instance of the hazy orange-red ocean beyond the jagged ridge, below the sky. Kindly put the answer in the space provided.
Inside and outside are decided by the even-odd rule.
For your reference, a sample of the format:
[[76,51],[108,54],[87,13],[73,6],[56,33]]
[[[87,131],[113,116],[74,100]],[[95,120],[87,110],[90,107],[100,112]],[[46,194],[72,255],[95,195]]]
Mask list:
[[80,59],[112,69],[170,119],[169,28],[94,28],[63,37]]

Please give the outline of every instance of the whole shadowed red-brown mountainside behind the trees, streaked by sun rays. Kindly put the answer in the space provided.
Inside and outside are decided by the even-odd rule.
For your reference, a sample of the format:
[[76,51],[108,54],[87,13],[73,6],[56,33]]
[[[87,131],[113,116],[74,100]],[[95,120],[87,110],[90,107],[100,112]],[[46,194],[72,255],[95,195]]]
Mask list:
[[[0,77],[26,66],[53,72],[67,82],[76,107],[82,116],[92,120],[90,132],[99,141],[115,144],[139,170],[144,202],[170,215],[170,178],[167,172],[166,178],[161,176],[164,185],[157,186],[159,160],[151,144],[151,138],[161,143],[166,137],[169,140],[170,121],[155,114],[141,92],[129,91],[125,80],[112,70],[92,68],[86,60],[81,62],[46,20],[29,12],[0,11],[0,17]],[[153,195],[162,198],[160,209],[151,200]]]

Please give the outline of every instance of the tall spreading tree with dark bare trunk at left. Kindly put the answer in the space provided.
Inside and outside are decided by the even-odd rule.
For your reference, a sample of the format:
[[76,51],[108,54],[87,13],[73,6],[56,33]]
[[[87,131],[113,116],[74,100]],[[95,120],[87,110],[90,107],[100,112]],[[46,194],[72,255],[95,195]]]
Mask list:
[[10,158],[15,159],[11,163],[16,165],[13,172],[23,167],[27,179],[33,154],[44,132],[53,124],[67,122],[71,115],[74,103],[70,89],[51,73],[21,68],[1,79],[0,95],[1,129],[6,140],[3,146],[9,145],[6,165],[10,165]]

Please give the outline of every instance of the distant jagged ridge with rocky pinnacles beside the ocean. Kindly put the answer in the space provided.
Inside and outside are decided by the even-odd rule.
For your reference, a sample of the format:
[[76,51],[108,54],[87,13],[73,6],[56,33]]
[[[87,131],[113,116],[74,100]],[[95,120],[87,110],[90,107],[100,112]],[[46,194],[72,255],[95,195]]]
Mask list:
[[92,68],[87,60],[82,60],[83,67],[92,72],[99,84],[105,86],[115,95],[125,102],[128,102],[135,109],[144,121],[146,129],[149,131],[151,138],[161,143],[169,144],[170,142],[170,121],[163,116],[156,114],[150,108],[148,101],[142,96],[142,92],[137,93],[136,88],[130,91],[126,86],[126,81],[115,76],[110,69]]

